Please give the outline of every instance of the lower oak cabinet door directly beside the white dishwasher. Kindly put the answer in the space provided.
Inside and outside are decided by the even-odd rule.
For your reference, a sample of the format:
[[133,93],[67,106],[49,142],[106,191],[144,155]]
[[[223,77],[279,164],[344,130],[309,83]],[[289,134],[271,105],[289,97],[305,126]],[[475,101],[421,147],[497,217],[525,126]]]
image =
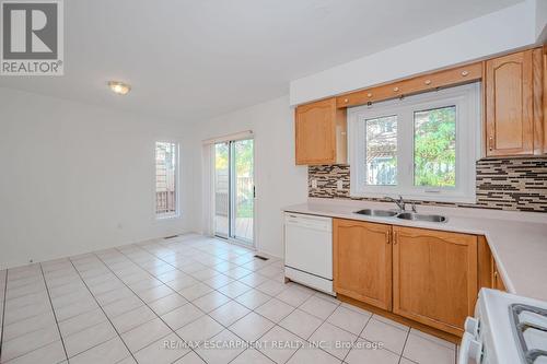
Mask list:
[[335,219],[333,227],[335,291],[389,310],[392,226]]

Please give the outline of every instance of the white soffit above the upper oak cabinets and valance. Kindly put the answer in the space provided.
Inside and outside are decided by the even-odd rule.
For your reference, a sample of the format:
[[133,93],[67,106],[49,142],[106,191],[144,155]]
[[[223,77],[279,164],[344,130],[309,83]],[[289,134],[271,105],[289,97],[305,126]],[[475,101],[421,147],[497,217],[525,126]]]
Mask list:
[[[290,104],[485,58],[536,43],[535,0],[527,0],[406,44],[298,79]],[[546,0],[537,0],[544,1]],[[405,30],[401,30],[404,32]]]

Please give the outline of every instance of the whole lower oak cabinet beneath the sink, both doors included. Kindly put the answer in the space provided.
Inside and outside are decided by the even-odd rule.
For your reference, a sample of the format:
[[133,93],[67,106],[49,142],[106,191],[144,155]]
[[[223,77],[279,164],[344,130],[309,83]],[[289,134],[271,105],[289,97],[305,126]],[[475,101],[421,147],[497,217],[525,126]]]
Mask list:
[[482,236],[334,219],[333,237],[336,293],[454,336],[503,289]]

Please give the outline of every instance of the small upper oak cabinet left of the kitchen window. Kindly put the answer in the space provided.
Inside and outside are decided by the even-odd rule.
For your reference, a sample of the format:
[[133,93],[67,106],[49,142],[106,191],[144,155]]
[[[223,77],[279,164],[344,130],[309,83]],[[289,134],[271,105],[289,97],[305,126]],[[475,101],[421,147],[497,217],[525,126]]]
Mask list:
[[296,164],[347,162],[346,109],[335,97],[298,106],[294,119]]

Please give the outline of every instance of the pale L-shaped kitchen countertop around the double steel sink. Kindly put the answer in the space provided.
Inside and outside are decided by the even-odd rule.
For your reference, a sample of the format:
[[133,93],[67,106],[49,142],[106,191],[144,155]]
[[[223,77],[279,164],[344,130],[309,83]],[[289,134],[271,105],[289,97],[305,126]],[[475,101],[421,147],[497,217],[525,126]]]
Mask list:
[[547,301],[547,214],[418,206],[419,213],[447,216],[444,223],[356,214],[360,209],[396,209],[393,203],[310,199],[287,212],[485,235],[509,292]]

